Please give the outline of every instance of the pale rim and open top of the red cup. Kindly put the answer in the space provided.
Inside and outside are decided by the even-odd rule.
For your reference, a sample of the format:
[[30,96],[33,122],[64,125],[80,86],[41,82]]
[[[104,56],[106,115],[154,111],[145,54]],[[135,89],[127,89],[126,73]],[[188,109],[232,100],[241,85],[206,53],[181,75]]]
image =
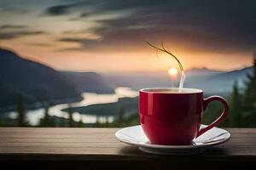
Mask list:
[[[170,89],[175,89],[176,91],[174,91],[174,93],[170,93]],[[160,92],[160,90],[164,90],[164,91]],[[165,90],[169,91],[169,93],[166,93]],[[201,94],[203,93],[203,91],[199,88],[183,88],[182,93],[178,93],[178,88],[142,88],[139,91],[147,94]]]

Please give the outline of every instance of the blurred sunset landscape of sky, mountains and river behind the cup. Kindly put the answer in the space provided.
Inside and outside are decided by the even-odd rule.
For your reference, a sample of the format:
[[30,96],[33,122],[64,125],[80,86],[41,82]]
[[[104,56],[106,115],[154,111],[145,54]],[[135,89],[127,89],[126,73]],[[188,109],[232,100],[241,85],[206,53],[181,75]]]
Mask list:
[[[220,127],[256,127],[255,1],[0,1],[0,126],[125,127],[138,89],[228,99]],[[212,103],[203,123],[222,108]]]

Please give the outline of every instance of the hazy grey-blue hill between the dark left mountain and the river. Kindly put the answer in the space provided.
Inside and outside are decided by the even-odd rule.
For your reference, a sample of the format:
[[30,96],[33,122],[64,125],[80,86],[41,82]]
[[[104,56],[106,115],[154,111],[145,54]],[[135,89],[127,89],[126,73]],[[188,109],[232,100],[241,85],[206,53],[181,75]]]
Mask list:
[[79,93],[113,93],[113,88],[108,84],[104,77],[96,72],[61,71],[61,75],[65,77],[68,82],[72,82]]

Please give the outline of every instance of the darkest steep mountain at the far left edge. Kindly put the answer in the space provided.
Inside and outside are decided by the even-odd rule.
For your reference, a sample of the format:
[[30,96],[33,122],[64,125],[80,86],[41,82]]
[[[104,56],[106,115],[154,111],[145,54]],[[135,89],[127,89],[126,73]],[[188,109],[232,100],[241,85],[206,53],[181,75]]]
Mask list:
[[26,104],[81,99],[73,84],[58,71],[6,49],[0,49],[0,84],[0,106],[15,105],[18,95]]

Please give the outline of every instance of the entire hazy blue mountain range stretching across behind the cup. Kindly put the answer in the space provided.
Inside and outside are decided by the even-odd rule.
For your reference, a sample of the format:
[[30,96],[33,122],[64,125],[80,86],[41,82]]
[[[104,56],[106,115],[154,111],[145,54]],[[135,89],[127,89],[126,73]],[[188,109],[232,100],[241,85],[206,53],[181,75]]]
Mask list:
[[[244,88],[253,67],[236,71],[194,68],[185,71],[184,87],[201,88],[206,94],[230,94],[234,81]],[[178,75],[179,76],[179,75]],[[11,50],[0,48],[0,108],[16,105],[18,96],[26,104],[39,101],[66,103],[81,99],[81,93],[113,93],[119,86],[132,89],[178,86],[179,77],[171,79],[167,71],[102,73],[55,71],[47,65],[24,59]]]

